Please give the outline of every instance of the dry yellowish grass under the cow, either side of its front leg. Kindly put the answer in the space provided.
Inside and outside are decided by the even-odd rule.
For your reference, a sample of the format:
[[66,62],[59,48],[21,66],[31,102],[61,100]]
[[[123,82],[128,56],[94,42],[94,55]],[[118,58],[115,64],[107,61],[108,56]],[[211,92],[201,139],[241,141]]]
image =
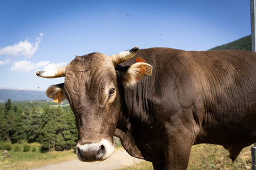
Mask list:
[[[251,152],[250,147],[245,147],[240,152],[234,164],[228,157],[228,151],[222,146],[218,145],[196,145],[191,150],[191,157],[189,159],[189,170],[241,170],[251,169]],[[142,162],[125,170],[151,170],[153,169],[150,162]],[[124,169],[122,169],[124,170]]]

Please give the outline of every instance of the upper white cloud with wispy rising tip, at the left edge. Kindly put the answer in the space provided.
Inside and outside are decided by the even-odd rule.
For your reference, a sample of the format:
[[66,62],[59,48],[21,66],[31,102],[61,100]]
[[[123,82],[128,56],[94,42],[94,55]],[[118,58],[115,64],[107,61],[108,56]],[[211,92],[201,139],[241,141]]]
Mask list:
[[9,45],[0,49],[0,55],[7,57],[17,57],[22,55],[27,58],[31,58],[32,55],[38,50],[38,46],[43,37],[43,33],[40,33],[40,37],[36,38],[36,42],[31,43],[28,40],[20,41],[18,44]]

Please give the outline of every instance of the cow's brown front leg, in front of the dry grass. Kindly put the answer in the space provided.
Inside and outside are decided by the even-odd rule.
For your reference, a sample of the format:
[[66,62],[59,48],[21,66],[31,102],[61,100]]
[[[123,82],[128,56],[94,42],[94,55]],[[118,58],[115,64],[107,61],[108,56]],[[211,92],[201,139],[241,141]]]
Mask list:
[[166,170],[184,170],[188,168],[188,160],[193,146],[193,132],[182,125],[166,130],[164,154]]

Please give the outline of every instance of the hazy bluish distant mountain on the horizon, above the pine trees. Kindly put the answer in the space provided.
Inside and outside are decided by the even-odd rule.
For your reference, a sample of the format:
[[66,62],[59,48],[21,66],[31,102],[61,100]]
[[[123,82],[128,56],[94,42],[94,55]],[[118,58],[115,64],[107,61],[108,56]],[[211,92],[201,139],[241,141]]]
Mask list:
[[10,98],[11,101],[37,101],[49,99],[46,96],[46,91],[0,89],[0,103],[6,102],[8,98]]

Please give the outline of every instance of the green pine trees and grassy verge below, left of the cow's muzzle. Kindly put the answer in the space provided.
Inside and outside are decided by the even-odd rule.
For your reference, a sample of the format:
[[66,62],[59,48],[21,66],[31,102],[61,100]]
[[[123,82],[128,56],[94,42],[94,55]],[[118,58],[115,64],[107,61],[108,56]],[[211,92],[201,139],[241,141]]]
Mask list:
[[[0,104],[0,170],[28,169],[75,159],[78,138],[69,106],[48,101]],[[2,154],[7,150],[9,154]]]

